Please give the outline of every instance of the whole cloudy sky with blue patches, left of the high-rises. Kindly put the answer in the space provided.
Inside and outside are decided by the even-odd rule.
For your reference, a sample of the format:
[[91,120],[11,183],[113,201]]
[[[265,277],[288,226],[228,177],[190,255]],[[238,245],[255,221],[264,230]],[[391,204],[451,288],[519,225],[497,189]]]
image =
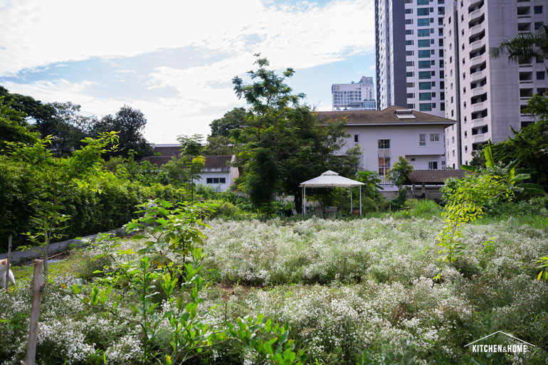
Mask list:
[[154,144],[246,106],[231,80],[255,53],[331,110],[333,83],[375,75],[374,43],[373,0],[0,0],[0,85],[84,115],[129,105]]

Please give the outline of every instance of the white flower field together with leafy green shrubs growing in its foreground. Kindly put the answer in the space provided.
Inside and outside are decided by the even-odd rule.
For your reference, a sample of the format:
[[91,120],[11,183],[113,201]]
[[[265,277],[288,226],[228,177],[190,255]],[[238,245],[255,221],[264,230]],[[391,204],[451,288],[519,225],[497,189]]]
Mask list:
[[[43,292],[38,364],[548,362],[548,282],[537,281],[536,263],[547,228],[512,218],[463,225],[463,251],[443,263],[436,217],[208,224],[193,243],[203,257],[186,254],[191,277],[177,268],[181,253],[167,242],[159,255],[150,236],[83,253],[79,270]],[[19,280],[0,292],[0,336],[9,339],[0,365],[24,357],[29,287]],[[464,347],[499,330],[535,347],[485,361]],[[287,357],[270,356],[276,347]]]

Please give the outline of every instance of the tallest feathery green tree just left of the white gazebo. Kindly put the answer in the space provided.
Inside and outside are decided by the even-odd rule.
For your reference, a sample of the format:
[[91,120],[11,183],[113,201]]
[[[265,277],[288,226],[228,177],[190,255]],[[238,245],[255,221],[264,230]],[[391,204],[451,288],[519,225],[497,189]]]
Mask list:
[[243,171],[239,186],[250,194],[253,205],[264,211],[270,210],[279,193],[294,194],[295,208],[300,210],[300,182],[326,169],[353,176],[358,152],[335,156],[342,137],[347,136],[344,122],[318,124],[310,107],[299,104],[304,94],[294,94],[285,83],[295,71],[288,68],[277,75],[266,69],[268,60],[256,56],[258,70],[248,72],[253,83],[233,78],[236,95],[249,106],[246,125],[232,133],[241,142],[236,147],[237,164]]

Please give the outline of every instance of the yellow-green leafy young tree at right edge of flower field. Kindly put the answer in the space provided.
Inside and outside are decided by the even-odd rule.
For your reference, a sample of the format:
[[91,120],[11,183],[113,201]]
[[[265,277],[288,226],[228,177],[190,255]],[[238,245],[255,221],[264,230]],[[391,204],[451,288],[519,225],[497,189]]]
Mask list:
[[[450,180],[450,179],[449,179]],[[489,173],[470,174],[463,179],[446,181],[442,188],[446,202],[441,216],[443,230],[438,235],[441,260],[453,263],[466,248],[460,226],[485,215],[485,206],[492,206],[500,200],[510,200],[512,190],[505,179]]]

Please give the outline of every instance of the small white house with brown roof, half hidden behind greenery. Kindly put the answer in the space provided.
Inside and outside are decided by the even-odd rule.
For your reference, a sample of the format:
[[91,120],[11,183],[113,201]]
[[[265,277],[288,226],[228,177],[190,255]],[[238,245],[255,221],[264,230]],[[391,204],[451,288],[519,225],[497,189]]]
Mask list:
[[238,169],[231,166],[236,158],[232,156],[206,156],[204,171],[200,174],[200,179],[196,179],[196,184],[212,186],[219,191],[226,191],[239,176]]

